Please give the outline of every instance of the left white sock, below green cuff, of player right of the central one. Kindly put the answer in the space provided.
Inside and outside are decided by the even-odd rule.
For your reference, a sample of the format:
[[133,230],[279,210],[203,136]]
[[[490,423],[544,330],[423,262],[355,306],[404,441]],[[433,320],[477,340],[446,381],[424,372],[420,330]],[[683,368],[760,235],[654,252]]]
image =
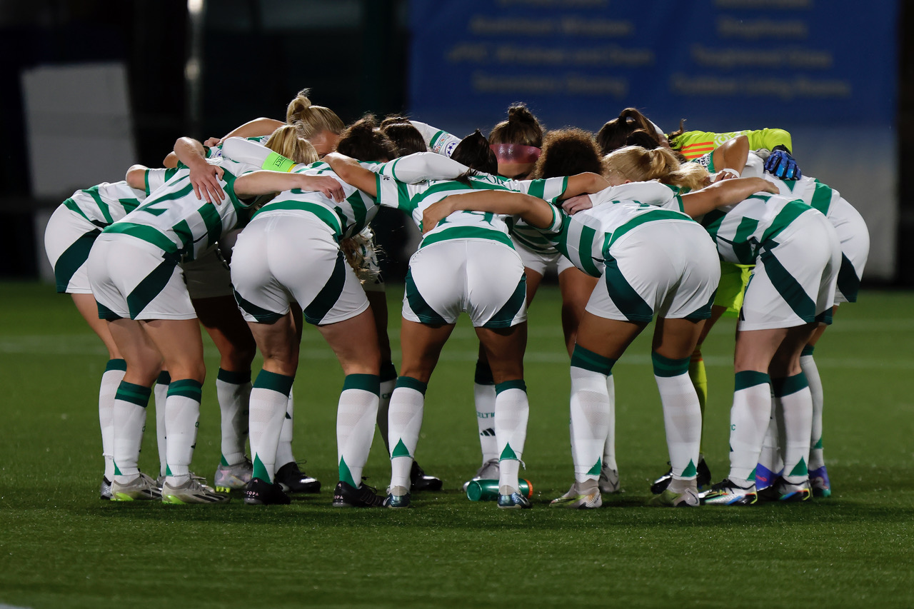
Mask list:
[[606,376],[600,372],[571,367],[571,458],[576,482],[599,480],[606,446],[610,396]]

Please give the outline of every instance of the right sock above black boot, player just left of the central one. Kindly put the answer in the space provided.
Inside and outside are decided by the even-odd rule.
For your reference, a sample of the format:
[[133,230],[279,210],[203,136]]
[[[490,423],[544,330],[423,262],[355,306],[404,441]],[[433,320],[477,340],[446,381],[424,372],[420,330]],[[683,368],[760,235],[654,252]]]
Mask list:
[[362,470],[375,437],[380,380],[374,374],[348,374],[336,409],[336,457],[340,482],[362,485]]

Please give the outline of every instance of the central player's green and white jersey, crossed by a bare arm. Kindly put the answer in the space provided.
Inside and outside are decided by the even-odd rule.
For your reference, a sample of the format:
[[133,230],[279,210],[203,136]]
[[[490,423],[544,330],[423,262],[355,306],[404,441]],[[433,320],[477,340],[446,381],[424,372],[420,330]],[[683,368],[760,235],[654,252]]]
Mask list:
[[[422,213],[425,208],[442,198],[466,194],[476,190],[512,190],[526,193],[548,201],[555,201],[568,186],[567,177],[550,177],[545,180],[508,180],[504,177],[478,174],[468,178],[469,184],[452,180],[432,180],[420,184],[406,184],[398,181],[378,182],[378,202],[386,207],[401,209],[412,217],[416,226],[422,228]],[[513,219],[482,211],[456,211],[441,220],[438,226],[427,232],[420,242],[420,248],[441,240],[483,239],[505,243],[512,250],[514,245],[508,237],[508,225]]]

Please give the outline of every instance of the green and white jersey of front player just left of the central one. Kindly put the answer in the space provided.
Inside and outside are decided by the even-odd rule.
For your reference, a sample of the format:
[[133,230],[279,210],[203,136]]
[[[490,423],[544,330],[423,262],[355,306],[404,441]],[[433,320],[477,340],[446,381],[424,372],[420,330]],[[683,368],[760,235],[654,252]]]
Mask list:
[[[361,165],[369,170],[377,168],[376,163],[363,163]],[[292,173],[305,176],[333,177],[343,186],[345,199],[337,203],[334,199],[324,196],[324,193],[293,188],[292,190],[281,192],[276,198],[273,198],[254,214],[254,218],[271,211],[305,211],[321,219],[324,224],[334,230],[336,239],[340,240],[365,229],[368,222],[377,214],[377,201],[374,198],[358,188],[346,184],[323,161],[318,161],[311,165],[296,165],[292,167]],[[381,188],[381,183],[394,182],[392,178],[387,176],[377,176],[377,181],[378,191]]]

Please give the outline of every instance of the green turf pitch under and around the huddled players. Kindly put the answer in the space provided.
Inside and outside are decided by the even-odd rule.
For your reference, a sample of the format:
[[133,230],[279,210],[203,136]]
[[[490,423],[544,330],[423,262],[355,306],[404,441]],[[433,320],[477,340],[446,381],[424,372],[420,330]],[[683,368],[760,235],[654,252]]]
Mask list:
[[[305,469],[324,482],[289,507],[112,504],[98,499],[97,391],[105,353],[69,297],[0,284],[0,604],[29,607],[914,605],[914,295],[866,292],[841,307],[816,360],[826,391],[825,454],[834,496],[801,505],[644,508],[666,462],[644,337],[615,368],[622,487],[592,511],[544,503],[571,482],[568,358],[559,298],[531,310],[524,460],[534,509],[504,512],[457,490],[479,465],[476,342],[464,322],[430,382],[420,463],[445,491],[409,510],[330,508],[335,401],[329,348],[305,332],[295,383]],[[390,290],[395,349],[399,288]],[[705,450],[726,474],[733,322],[706,343]],[[395,357],[396,360],[396,357]],[[218,462],[214,370],[194,468]],[[141,466],[156,469],[150,413]],[[376,438],[366,469],[384,487]]]

